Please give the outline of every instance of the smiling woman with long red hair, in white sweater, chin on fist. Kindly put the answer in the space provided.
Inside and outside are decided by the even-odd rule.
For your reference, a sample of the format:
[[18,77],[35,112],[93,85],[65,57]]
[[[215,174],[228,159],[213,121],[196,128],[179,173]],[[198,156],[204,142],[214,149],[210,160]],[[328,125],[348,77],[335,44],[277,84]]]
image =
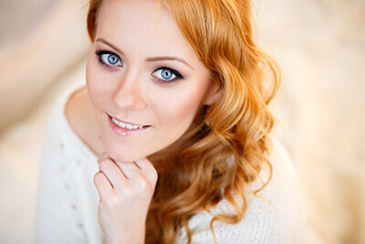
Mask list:
[[297,175],[271,147],[276,66],[250,11],[90,1],[86,89],[51,115],[36,243],[299,242]]

